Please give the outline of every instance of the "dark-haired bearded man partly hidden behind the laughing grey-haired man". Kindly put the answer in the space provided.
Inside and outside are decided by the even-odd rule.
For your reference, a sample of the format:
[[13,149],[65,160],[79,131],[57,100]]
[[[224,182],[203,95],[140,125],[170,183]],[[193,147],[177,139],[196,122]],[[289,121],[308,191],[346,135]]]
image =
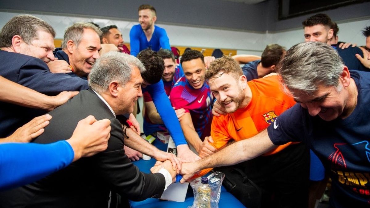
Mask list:
[[100,29],[102,31],[100,43],[101,44],[114,44],[122,53],[130,54],[127,46],[123,44],[123,37],[118,27],[110,25]]

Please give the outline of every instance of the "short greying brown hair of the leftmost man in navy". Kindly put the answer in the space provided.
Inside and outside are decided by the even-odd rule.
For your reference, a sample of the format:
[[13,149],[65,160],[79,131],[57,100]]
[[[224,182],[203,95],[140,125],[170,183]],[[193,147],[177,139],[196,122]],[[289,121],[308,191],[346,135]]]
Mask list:
[[53,38],[55,37],[55,30],[46,21],[29,14],[17,15],[1,29],[0,47],[10,47],[12,38],[16,35],[21,36],[25,43],[30,44],[38,38],[38,30],[46,31]]

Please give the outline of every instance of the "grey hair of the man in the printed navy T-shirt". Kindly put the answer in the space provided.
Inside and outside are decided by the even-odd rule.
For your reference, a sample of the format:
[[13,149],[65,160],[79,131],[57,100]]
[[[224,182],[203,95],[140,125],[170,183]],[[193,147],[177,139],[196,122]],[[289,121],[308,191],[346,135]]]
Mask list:
[[296,44],[286,52],[277,66],[277,74],[287,90],[312,94],[320,84],[340,91],[343,67],[343,60],[334,48],[326,43],[307,42]]

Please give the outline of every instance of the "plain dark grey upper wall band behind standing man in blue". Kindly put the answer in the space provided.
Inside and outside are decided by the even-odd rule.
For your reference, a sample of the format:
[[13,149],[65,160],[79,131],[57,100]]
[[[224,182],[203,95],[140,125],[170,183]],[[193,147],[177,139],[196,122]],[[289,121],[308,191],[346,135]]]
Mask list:
[[264,4],[248,5],[222,0],[1,0],[0,9],[137,21],[137,9],[144,3],[151,4],[157,10],[157,23],[232,30],[266,30],[265,21],[258,18]]

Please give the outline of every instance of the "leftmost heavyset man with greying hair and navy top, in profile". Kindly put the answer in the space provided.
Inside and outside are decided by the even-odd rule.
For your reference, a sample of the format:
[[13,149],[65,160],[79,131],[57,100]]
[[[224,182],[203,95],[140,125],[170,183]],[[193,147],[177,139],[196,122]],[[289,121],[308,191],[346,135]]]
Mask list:
[[[49,71],[46,63],[54,60],[54,37],[53,27],[40,18],[18,15],[10,19],[0,32],[0,76],[46,95],[87,89],[85,80]],[[0,138],[44,113],[0,102]]]

